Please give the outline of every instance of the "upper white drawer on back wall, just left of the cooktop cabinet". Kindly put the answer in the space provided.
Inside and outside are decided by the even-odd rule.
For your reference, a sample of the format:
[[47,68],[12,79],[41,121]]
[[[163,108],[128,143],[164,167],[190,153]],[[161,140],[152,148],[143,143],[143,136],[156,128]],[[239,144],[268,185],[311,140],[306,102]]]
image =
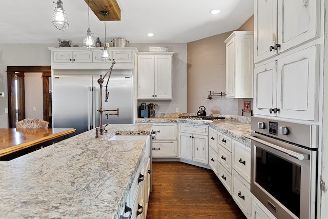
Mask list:
[[154,131],[157,131],[156,140],[176,140],[176,123],[153,123]]

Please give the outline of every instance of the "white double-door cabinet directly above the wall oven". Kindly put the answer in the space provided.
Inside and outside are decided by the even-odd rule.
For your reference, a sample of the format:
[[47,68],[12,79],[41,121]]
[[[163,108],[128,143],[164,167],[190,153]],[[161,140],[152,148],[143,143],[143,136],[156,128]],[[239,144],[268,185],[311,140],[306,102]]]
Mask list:
[[254,69],[254,114],[317,120],[319,46]]

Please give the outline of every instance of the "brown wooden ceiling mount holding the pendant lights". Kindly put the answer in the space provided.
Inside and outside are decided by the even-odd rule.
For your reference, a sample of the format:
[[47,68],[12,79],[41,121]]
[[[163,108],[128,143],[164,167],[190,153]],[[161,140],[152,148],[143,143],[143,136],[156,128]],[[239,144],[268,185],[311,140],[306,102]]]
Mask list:
[[[88,5],[88,0],[84,0]],[[116,0],[89,0],[90,9],[98,17],[100,21],[120,21],[121,20],[121,9],[119,8]],[[104,19],[104,15],[100,11],[108,11]]]

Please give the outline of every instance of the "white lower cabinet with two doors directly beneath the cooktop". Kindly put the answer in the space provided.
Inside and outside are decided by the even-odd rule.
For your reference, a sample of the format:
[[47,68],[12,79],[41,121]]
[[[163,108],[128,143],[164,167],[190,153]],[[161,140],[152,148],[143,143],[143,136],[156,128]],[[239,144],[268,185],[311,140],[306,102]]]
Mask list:
[[179,158],[195,161],[202,164],[208,164],[208,126],[178,124],[178,129]]

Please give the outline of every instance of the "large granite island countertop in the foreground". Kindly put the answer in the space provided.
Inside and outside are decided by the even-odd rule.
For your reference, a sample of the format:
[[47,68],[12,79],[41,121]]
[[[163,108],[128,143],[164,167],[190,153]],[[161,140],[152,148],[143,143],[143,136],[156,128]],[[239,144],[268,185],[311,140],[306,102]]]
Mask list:
[[4,218],[118,218],[144,154],[145,141],[106,141],[116,134],[149,135],[152,125],[109,125],[0,162]]

